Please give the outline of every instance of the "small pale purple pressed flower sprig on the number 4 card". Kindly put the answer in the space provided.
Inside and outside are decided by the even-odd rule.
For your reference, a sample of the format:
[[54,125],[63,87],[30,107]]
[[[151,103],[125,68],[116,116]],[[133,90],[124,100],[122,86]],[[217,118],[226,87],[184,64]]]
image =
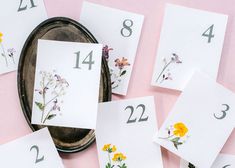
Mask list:
[[175,63],[175,64],[182,63],[179,56],[175,53],[172,54],[169,61],[167,61],[167,59],[164,58],[163,62],[164,62],[164,67],[163,67],[162,71],[160,72],[160,74],[158,75],[157,80],[156,80],[156,82],[159,82],[159,83],[162,83],[163,81],[166,81],[166,80],[173,80],[173,78],[171,77],[171,73],[169,72],[170,71],[169,66],[173,63]]

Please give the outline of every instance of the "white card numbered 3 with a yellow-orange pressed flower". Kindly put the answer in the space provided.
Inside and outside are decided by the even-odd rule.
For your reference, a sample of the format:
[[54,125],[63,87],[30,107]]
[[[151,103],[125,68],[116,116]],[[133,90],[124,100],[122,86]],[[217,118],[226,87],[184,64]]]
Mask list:
[[234,93],[196,72],[154,141],[197,167],[211,167],[234,128],[234,102]]

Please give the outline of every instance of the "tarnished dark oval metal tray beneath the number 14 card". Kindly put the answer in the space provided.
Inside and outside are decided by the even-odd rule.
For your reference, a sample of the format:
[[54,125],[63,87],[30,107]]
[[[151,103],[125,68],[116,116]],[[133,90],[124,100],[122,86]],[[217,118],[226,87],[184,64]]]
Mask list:
[[[84,26],[72,19],[64,17],[51,18],[42,22],[29,35],[20,55],[17,85],[20,103],[24,116],[33,131],[45,127],[41,125],[31,124],[38,39],[98,43],[97,40],[93,37],[93,35]],[[99,90],[99,102],[105,102],[110,100],[110,74],[108,65],[103,57]],[[78,152],[87,148],[95,141],[94,130],[54,126],[49,126],[48,129],[57,147],[57,150],[60,152]]]

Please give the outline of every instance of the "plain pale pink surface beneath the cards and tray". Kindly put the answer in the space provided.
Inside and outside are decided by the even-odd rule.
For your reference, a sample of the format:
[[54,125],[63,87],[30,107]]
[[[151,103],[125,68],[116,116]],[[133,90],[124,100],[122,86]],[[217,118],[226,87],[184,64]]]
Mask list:
[[[44,0],[49,17],[66,16],[78,20],[82,0]],[[173,107],[180,92],[150,86],[153,62],[157,50],[164,6],[167,2],[199,8],[229,15],[225,43],[217,81],[235,91],[235,5],[234,0],[90,0],[91,2],[145,15],[142,35],[134,70],[126,97],[154,95],[159,126]],[[107,23],[108,24],[108,23]],[[210,65],[208,65],[210,66]],[[0,76],[0,144],[14,140],[31,132],[21,111],[16,72]],[[208,133],[208,138],[210,133]],[[179,167],[179,158],[162,149],[164,166]],[[235,132],[225,144],[223,153],[235,154]],[[61,154],[66,168],[98,168],[96,145],[75,154]]]

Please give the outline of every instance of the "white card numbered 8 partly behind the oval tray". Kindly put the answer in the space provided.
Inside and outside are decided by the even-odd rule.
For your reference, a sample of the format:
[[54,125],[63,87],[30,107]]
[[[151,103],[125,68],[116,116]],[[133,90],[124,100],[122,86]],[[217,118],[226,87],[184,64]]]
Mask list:
[[83,2],[80,22],[104,44],[112,92],[126,95],[144,16]]

